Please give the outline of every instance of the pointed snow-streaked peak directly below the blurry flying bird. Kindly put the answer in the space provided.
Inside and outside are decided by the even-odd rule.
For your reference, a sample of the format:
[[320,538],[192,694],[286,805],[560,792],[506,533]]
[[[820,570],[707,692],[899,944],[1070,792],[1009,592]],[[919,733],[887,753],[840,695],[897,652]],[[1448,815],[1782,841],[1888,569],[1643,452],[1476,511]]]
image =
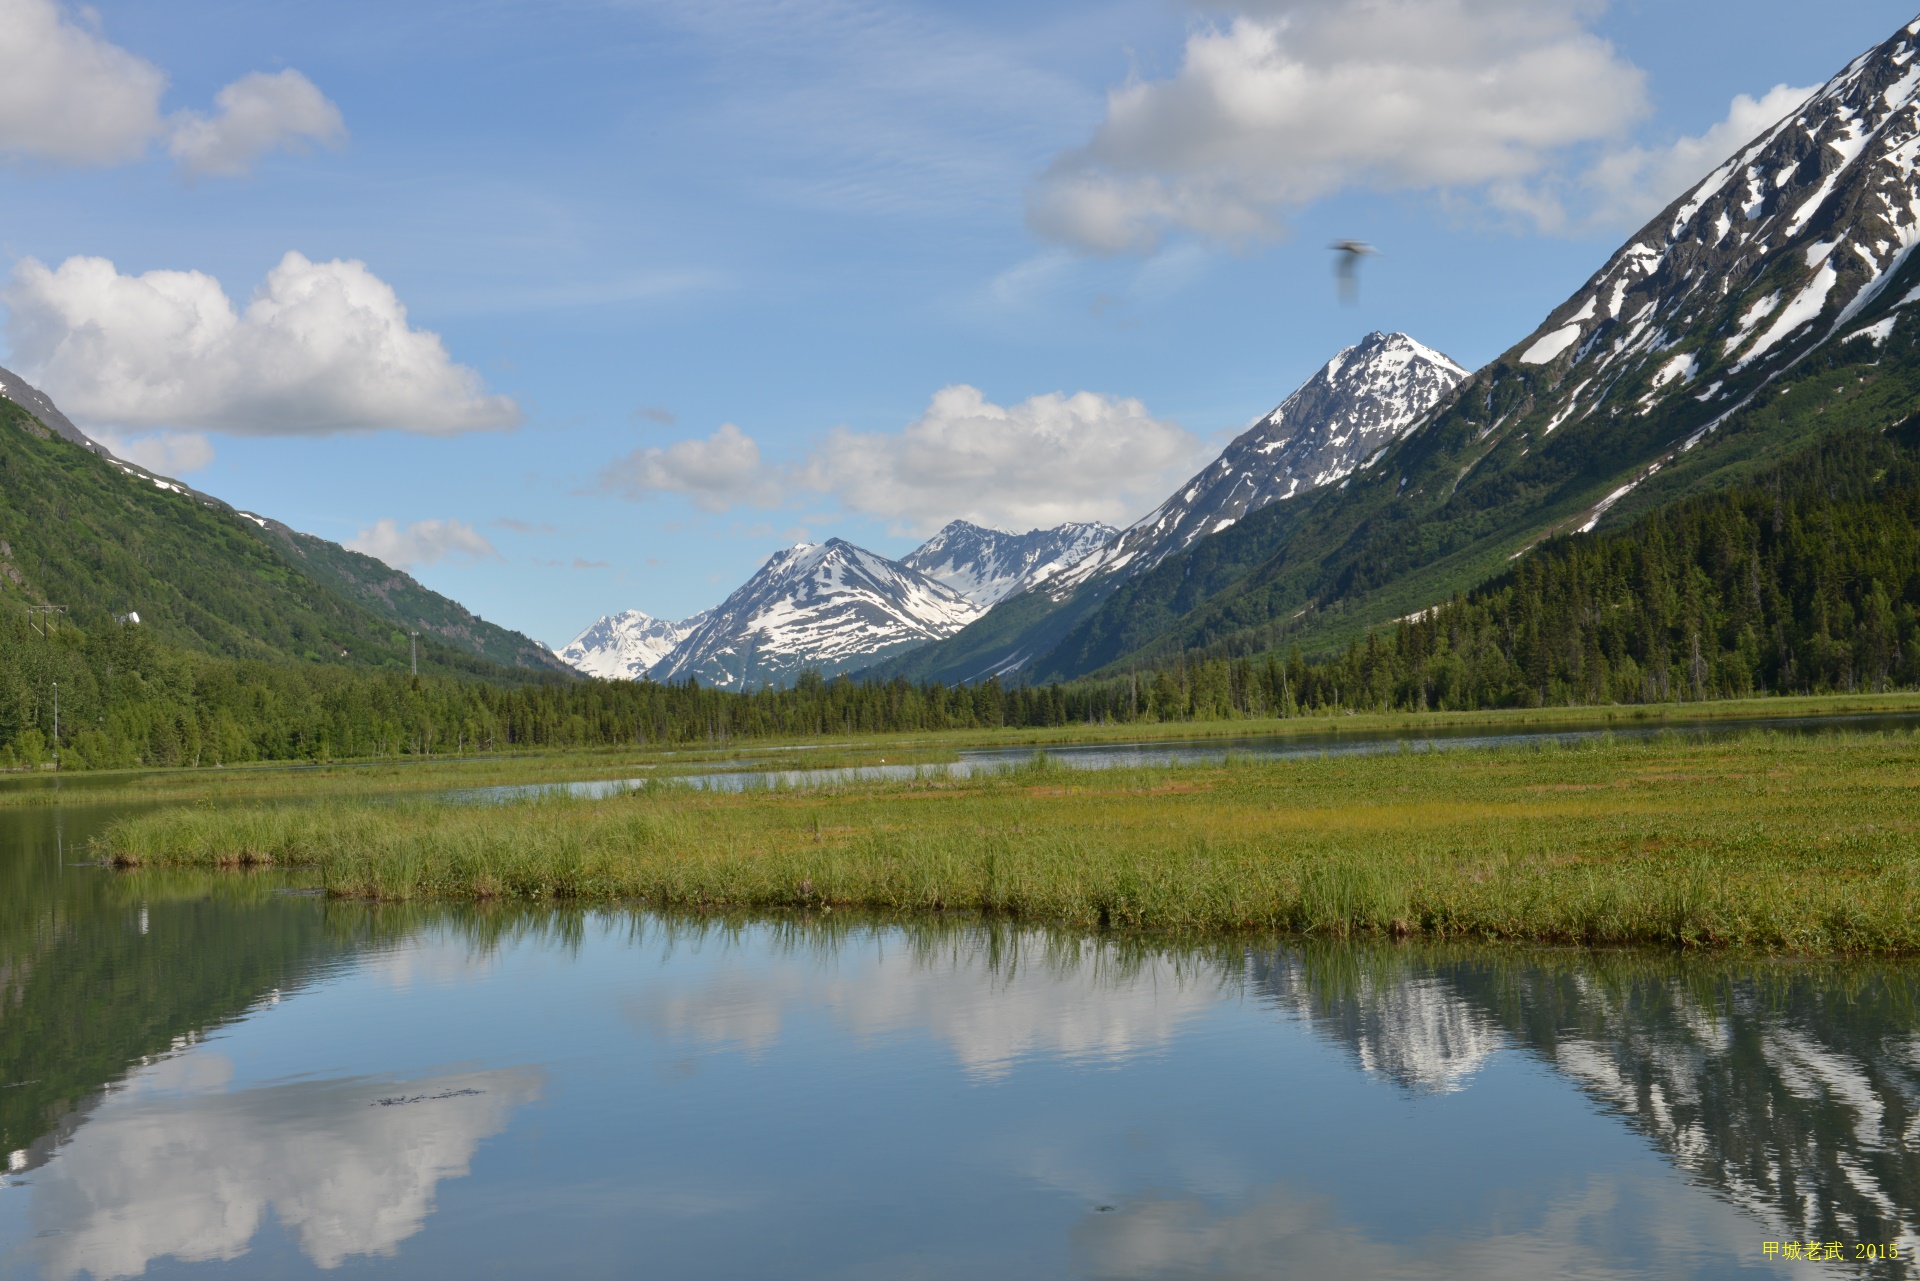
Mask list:
[[1413,430],[1465,376],[1465,369],[1405,334],[1367,334],[1179,494],[1100,551],[1052,574],[1046,590],[1060,599],[1091,578],[1146,572],[1252,511],[1342,480]]

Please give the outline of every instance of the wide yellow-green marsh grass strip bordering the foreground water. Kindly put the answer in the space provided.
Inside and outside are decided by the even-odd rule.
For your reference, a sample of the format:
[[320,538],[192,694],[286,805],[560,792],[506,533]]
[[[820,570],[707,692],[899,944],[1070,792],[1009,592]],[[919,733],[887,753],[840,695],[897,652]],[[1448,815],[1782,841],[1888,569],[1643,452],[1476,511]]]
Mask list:
[[334,895],[989,912],[1081,928],[1920,953],[1920,739],[1749,734],[492,807],[198,805],[123,866]]

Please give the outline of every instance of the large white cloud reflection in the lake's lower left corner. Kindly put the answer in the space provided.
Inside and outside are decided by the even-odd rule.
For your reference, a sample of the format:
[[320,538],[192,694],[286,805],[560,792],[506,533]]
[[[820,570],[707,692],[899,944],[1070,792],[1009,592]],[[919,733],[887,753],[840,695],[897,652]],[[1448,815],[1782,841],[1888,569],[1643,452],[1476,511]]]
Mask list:
[[440,1181],[463,1177],[480,1141],[540,1095],[530,1070],[223,1093],[225,1076],[190,1058],[109,1095],[38,1173],[48,1277],[234,1260],[269,1210],[319,1268],[392,1254],[420,1231]]

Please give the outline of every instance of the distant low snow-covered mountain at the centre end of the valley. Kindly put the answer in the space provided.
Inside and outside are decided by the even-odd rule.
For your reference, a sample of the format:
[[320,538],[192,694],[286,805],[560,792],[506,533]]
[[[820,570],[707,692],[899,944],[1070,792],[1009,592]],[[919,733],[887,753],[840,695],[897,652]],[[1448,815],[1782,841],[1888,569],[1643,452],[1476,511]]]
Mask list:
[[649,672],[724,689],[826,676],[952,636],[981,615],[952,588],[829,538],[776,551]]

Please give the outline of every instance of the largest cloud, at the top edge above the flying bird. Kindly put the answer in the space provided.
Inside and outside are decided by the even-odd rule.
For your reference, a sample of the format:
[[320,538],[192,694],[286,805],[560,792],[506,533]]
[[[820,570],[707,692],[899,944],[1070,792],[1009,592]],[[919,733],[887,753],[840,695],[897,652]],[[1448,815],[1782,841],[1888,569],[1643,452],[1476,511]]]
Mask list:
[[1100,254],[1169,230],[1271,236],[1342,188],[1513,184],[1645,115],[1594,0],[1269,0],[1196,27],[1181,69],[1108,94],[1029,192],[1035,230]]

